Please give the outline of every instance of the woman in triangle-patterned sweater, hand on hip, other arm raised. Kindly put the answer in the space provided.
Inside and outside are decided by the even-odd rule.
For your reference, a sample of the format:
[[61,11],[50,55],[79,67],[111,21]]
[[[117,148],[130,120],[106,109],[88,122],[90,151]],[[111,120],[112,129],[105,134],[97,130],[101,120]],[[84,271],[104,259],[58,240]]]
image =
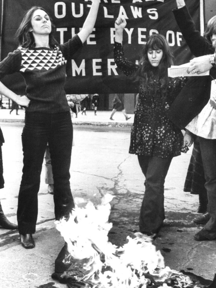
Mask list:
[[19,72],[26,82],[27,97],[19,97],[2,83],[0,93],[27,106],[17,210],[20,240],[27,249],[35,247],[32,234],[37,221],[37,193],[47,143],[54,180],[55,218],[67,218],[74,208],[69,182],[73,126],[64,90],[66,63],[92,32],[99,3],[100,0],[92,1],[81,31],[62,45],[54,39],[54,25],[48,13],[42,7],[32,7],[16,33],[19,47],[0,63],[1,77]]

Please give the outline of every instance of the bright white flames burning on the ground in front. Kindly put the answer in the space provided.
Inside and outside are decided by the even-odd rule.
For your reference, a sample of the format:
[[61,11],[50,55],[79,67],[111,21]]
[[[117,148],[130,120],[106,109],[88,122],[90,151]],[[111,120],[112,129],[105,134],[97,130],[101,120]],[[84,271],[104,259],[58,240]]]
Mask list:
[[106,194],[101,204],[96,206],[91,201],[86,204],[84,199],[75,198],[75,203],[83,207],[76,204],[67,221],[64,218],[55,221],[70,254],[65,263],[71,263],[73,259],[74,264],[74,259],[77,259],[82,264],[77,273],[75,266],[71,265],[67,276],[73,271],[71,277],[89,283],[90,286],[86,287],[93,288],[147,288],[152,282],[158,283],[155,286],[158,288],[167,288],[173,283],[180,288],[203,287],[165,266],[164,258],[160,251],[156,251],[151,237],[137,232],[135,238],[128,236],[128,242],[122,247],[109,242],[107,235],[112,228],[108,221],[109,202],[113,197]]

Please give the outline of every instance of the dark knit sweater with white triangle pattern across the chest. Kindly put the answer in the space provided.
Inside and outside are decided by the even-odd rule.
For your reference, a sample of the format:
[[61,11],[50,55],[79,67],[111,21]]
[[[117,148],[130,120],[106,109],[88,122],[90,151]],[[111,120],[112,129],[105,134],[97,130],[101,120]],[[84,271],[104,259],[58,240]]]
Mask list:
[[24,49],[21,46],[0,63],[0,79],[19,72],[30,99],[26,111],[57,113],[69,111],[65,96],[66,63],[83,46],[78,35],[55,46]]

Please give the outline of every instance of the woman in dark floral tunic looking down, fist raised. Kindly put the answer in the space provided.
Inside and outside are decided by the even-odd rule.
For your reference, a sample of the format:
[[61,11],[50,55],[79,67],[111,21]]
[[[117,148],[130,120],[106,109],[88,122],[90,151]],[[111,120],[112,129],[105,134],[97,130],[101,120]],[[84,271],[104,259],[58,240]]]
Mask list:
[[169,78],[173,56],[166,38],[149,36],[139,65],[124,56],[122,34],[126,20],[115,21],[114,59],[116,65],[139,86],[139,99],[131,129],[129,153],[138,156],[145,175],[145,194],[139,218],[139,230],[155,238],[165,219],[164,181],[173,157],[186,152],[192,144],[167,117],[166,110],[184,86],[186,79]]

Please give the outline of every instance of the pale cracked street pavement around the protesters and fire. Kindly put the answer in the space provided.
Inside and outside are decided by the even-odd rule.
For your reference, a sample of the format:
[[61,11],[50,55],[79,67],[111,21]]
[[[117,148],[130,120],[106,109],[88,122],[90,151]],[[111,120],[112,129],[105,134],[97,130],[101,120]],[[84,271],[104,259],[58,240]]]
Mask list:
[[[0,126],[5,136],[3,163],[5,188],[1,204],[7,218],[16,222],[17,194],[22,175],[21,131],[24,110],[20,115],[1,109]],[[139,209],[143,198],[144,177],[136,156],[128,154],[130,126],[121,112],[109,120],[111,111],[87,111],[72,118],[75,146],[72,149],[71,189],[74,197],[98,203],[106,194],[113,194],[110,222],[113,228],[109,241],[117,246],[126,243],[138,231]],[[75,115],[74,115],[75,116]],[[12,122],[12,123],[11,123]],[[101,127],[100,127],[101,126]],[[105,127],[106,126],[106,127]],[[109,130],[110,127],[110,130]],[[128,128],[127,128],[128,127]],[[106,128],[106,129],[105,129]],[[108,129],[108,130],[107,130]],[[9,139],[12,141],[9,141]],[[216,241],[197,242],[193,235],[200,229],[193,223],[198,196],[183,192],[183,184],[192,148],[175,157],[165,182],[166,220],[154,245],[164,256],[166,266],[185,270],[213,280],[216,272]],[[60,288],[67,287],[51,278],[54,261],[64,240],[54,226],[52,195],[41,173],[39,214],[34,249],[20,245],[18,231],[0,229],[0,287],[2,288]]]

